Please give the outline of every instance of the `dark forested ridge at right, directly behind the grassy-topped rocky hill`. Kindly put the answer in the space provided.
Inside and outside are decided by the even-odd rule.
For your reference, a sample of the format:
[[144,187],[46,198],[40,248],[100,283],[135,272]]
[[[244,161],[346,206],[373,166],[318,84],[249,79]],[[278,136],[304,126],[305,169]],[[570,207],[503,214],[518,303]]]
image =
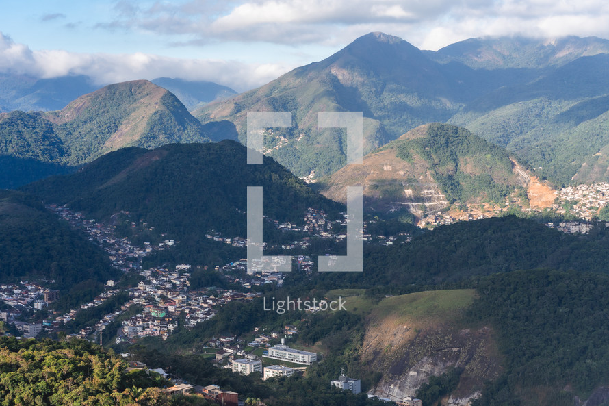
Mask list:
[[324,289],[365,288],[404,294],[428,286],[463,286],[471,277],[552,268],[609,273],[609,229],[582,236],[534,220],[505,216],[436,227],[409,244],[364,246],[363,272],[315,274],[297,283]]

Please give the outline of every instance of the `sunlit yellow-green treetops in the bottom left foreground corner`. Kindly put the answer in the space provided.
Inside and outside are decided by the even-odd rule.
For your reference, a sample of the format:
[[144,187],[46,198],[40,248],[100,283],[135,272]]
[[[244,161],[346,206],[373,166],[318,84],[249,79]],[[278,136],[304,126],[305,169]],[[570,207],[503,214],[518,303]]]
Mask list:
[[82,340],[0,337],[0,404],[170,405],[160,375],[126,368],[114,353]]

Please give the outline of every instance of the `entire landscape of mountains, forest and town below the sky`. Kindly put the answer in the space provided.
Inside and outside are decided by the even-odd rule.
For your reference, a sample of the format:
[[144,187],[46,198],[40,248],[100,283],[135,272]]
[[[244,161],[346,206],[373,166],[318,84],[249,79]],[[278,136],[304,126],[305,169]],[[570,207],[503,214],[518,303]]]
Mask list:
[[[608,55],[372,32],[239,94],[0,73],[0,398],[606,404]],[[248,112],[291,113],[262,164]],[[318,112],[362,112],[361,164]],[[250,186],[289,271],[248,269]],[[349,186],[363,271],[324,272]]]

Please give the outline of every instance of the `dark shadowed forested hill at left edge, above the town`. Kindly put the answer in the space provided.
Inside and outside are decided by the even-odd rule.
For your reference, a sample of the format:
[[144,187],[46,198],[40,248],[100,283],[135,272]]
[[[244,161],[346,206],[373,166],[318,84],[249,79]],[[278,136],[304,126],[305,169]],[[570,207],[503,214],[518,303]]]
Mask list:
[[33,196],[0,190],[0,279],[46,280],[60,290],[56,305],[92,299],[118,277],[107,255],[47,211]]

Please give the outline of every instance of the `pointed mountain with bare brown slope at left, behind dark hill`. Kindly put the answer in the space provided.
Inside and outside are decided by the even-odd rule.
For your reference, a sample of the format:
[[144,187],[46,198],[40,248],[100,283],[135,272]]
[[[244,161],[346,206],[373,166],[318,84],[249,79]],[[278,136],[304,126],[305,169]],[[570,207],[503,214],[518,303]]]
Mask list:
[[[233,138],[230,130],[222,123],[202,125],[164,88],[130,81],[85,94],[62,110],[0,113],[0,155],[76,166],[123,147],[206,142],[207,131],[214,138],[225,133]],[[10,172],[5,183],[20,176]]]

